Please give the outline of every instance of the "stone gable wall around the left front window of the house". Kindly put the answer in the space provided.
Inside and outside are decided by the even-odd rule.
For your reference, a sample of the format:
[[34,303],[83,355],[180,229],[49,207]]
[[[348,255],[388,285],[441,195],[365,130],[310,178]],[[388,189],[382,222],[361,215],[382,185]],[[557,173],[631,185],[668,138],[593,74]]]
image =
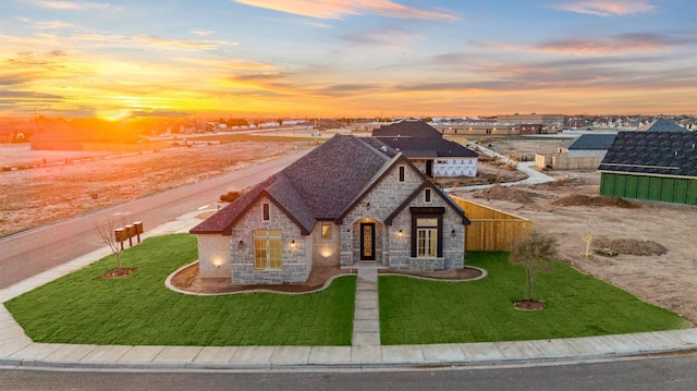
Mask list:
[[[269,220],[264,221],[262,205],[269,204]],[[283,265],[281,269],[254,268],[254,231],[281,230]],[[243,244],[240,245],[240,241]],[[295,241],[295,244],[292,244]],[[249,208],[232,229],[230,241],[233,284],[304,283],[311,270],[313,241],[268,198]]]

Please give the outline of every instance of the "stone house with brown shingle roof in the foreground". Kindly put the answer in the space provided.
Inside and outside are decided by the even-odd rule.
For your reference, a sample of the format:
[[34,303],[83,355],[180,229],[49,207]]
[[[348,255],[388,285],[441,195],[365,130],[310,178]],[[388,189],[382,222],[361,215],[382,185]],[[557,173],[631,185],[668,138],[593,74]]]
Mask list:
[[201,278],[303,283],[313,267],[464,267],[464,211],[402,152],[337,134],[189,232]]

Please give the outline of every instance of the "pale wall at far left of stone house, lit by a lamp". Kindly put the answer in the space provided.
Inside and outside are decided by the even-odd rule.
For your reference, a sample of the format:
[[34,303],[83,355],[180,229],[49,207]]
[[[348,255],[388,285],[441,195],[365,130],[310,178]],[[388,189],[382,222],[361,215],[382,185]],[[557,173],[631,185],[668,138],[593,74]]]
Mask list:
[[230,236],[199,234],[198,274],[204,279],[230,278]]

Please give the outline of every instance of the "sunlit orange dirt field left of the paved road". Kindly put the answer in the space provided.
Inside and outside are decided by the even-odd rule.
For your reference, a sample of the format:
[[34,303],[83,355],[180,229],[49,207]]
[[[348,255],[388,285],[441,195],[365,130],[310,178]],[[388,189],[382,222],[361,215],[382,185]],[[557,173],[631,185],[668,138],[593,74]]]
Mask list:
[[[0,235],[219,175],[310,143],[198,143],[117,155],[0,145]],[[44,163],[46,159],[46,163]],[[16,169],[14,169],[16,168]]]

